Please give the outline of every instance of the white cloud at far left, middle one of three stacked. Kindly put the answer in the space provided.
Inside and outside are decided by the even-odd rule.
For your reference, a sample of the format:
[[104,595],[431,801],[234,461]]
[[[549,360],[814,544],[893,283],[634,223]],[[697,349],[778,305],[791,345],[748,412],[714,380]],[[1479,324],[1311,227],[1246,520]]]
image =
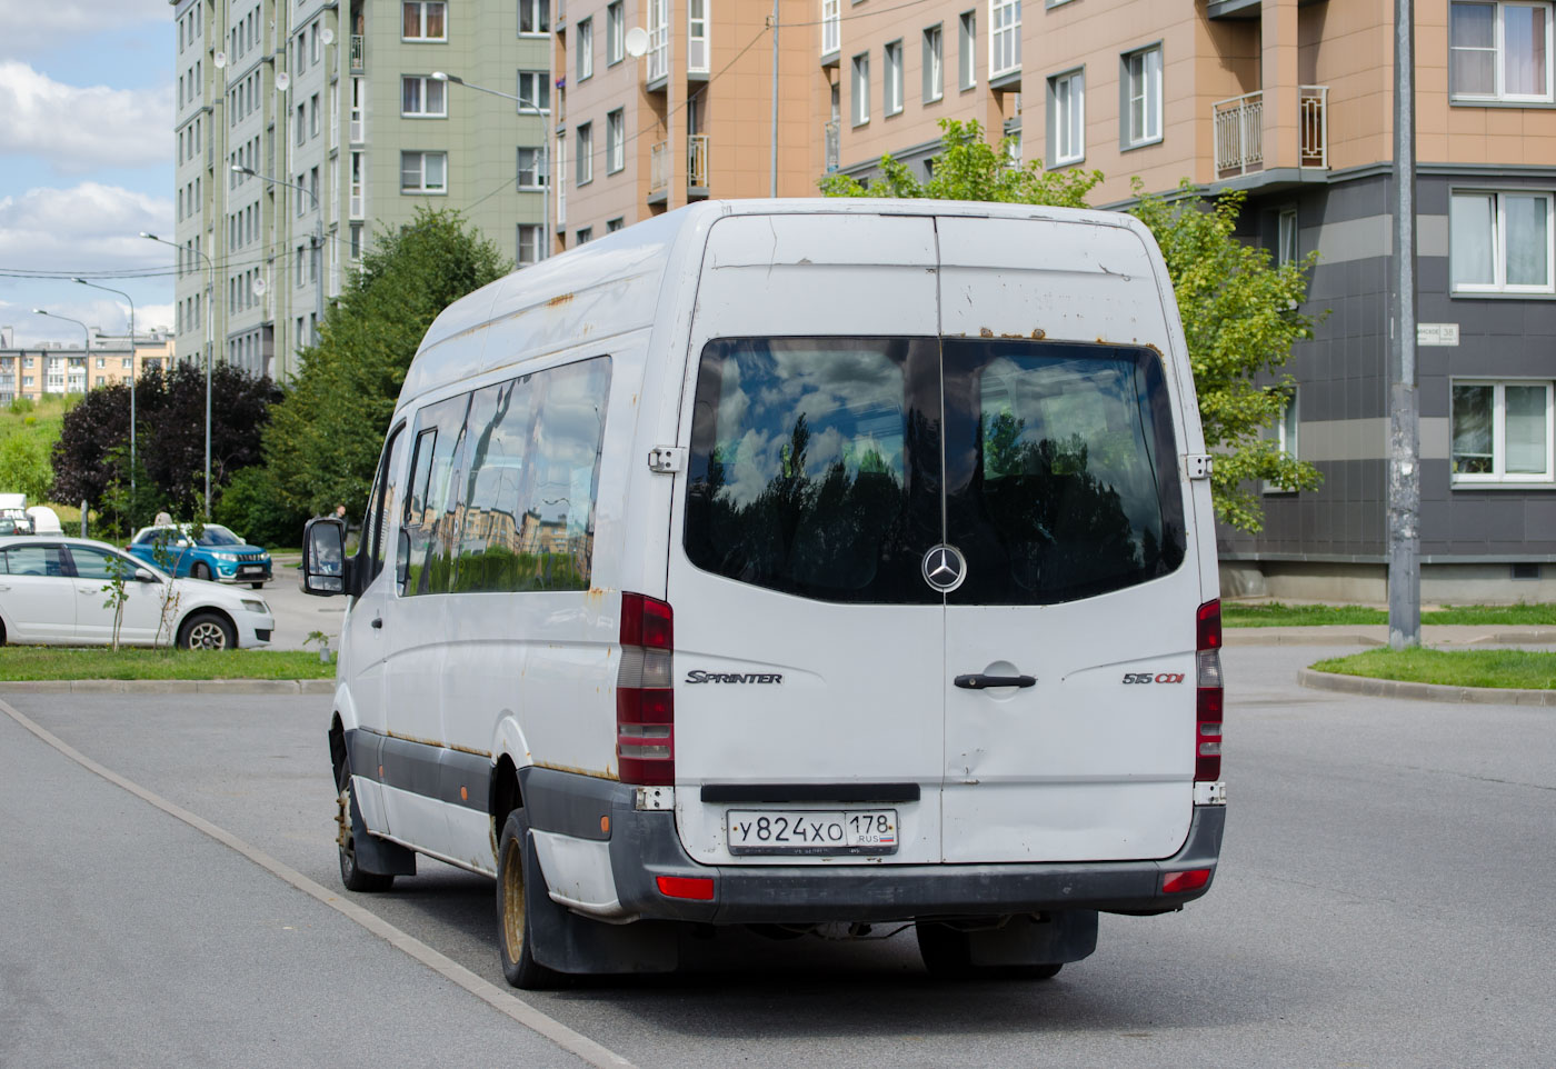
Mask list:
[[[8,22],[5,3],[0,25]],[[67,86],[28,64],[0,61],[0,156],[36,156],[61,171],[156,166],[173,157],[171,86]]]

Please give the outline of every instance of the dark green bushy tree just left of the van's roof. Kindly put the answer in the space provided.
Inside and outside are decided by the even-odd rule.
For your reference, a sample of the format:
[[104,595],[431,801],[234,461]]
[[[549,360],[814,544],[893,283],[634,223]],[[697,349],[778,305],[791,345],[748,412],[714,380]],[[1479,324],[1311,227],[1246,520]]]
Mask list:
[[417,209],[377,247],[325,313],[319,344],[271,409],[265,462],[280,504],[294,513],[367,506],[378,450],[400,384],[443,308],[512,265],[453,210]]

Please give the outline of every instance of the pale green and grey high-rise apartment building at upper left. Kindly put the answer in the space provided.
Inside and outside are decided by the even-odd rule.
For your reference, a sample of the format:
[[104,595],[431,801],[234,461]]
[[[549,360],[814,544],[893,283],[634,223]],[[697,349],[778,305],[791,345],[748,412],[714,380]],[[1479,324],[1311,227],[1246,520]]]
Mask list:
[[[549,87],[549,30],[513,0],[170,0],[179,359],[286,378],[375,229],[417,205],[464,212],[523,257],[543,184],[515,157],[543,117],[507,96]],[[453,75],[465,84],[433,78]],[[531,257],[534,246],[531,246]]]

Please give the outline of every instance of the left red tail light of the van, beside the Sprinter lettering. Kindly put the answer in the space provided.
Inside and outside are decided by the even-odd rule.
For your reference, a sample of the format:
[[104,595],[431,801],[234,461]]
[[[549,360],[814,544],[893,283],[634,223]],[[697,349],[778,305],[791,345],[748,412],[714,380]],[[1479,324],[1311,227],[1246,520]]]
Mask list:
[[616,669],[616,762],[621,781],[675,783],[674,615],[663,601],[621,596],[621,668]]

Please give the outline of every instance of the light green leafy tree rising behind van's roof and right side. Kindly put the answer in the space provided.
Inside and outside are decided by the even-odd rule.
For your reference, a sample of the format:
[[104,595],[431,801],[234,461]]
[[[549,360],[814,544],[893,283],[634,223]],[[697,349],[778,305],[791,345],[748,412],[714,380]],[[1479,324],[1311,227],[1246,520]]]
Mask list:
[[[1011,138],[990,145],[976,121],[941,120],[940,129],[941,149],[927,182],[882,156],[882,176],[868,190],[848,176],[829,174],[820,182],[822,191],[1086,207],[1086,196],[1103,177],[1078,168],[1044,171],[1041,160],[1016,163]],[[1313,319],[1298,307],[1318,257],[1276,266],[1267,251],[1239,241],[1242,191],[1206,202],[1189,181],[1170,198],[1145,193],[1139,179],[1133,188],[1131,215],[1156,235],[1183,314],[1204,440],[1215,454],[1215,515],[1240,531],[1257,532],[1263,526],[1253,490],[1259,481],[1287,490],[1310,490],[1319,482],[1312,464],[1282,454],[1267,434],[1293,384],[1281,369],[1291,345],[1312,336]],[[996,445],[1001,431],[1008,433],[991,429]]]

